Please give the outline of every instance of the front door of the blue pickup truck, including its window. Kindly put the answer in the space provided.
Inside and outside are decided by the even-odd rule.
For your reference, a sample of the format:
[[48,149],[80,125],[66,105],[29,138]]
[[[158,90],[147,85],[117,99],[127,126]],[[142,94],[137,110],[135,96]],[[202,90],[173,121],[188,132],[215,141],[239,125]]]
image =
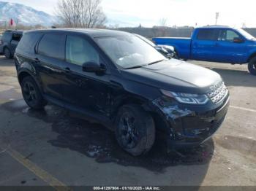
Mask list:
[[246,42],[234,42],[235,38],[244,39],[233,29],[219,29],[218,41],[214,50],[215,61],[242,63],[246,58]]

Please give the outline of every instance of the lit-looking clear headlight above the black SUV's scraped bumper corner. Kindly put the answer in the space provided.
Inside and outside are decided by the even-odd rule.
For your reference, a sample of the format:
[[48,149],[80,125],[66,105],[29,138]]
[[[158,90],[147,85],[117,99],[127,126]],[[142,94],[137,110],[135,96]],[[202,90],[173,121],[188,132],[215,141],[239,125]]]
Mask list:
[[192,94],[192,93],[174,93],[167,90],[161,90],[163,95],[166,95],[170,98],[175,98],[181,104],[194,104],[194,105],[203,105],[206,104],[208,96],[205,94]]

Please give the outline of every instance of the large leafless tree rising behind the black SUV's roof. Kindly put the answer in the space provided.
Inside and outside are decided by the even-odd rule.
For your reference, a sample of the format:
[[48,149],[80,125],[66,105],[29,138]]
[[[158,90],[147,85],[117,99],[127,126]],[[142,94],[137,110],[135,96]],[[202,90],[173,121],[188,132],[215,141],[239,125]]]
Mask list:
[[96,28],[106,23],[101,0],[59,0],[56,15],[66,27]]

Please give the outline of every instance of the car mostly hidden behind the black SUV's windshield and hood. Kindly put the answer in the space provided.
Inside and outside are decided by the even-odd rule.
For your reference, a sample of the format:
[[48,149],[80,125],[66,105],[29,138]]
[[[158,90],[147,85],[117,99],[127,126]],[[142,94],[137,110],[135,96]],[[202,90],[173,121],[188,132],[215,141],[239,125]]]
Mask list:
[[152,47],[154,47],[158,52],[160,52],[162,55],[164,55],[166,58],[176,58],[178,59],[178,55],[174,51],[174,47],[168,46],[168,45],[157,45],[154,44],[154,42],[151,42],[144,36],[141,36],[139,34],[134,34],[135,36],[138,36],[140,39],[143,39],[146,43],[150,44]]

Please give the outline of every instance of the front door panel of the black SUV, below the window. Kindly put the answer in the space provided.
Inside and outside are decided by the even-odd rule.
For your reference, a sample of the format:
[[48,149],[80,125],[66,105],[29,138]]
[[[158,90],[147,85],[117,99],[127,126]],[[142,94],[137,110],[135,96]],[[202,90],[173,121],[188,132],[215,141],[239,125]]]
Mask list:
[[95,114],[108,115],[110,74],[98,76],[71,63],[69,69],[63,83],[65,102]]

